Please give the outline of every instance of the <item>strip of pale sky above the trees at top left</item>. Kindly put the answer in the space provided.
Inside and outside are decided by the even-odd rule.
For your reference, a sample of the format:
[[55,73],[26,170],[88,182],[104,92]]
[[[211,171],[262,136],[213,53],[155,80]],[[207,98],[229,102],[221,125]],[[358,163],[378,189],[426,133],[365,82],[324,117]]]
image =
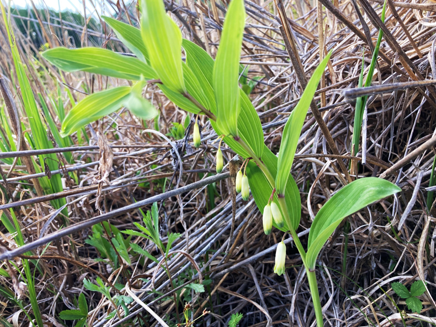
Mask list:
[[[52,9],[59,10],[59,7],[61,7],[61,10],[71,10],[83,15],[82,0],[33,0],[33,2],[37,8],[50,7]],[[96,8],[94,8],[93,3],[95,4]],[[27,7],[31,6],[31,0],[12,0],[11,4],[13,6]],[[85,4],[87,16],[89,16],[90,13],[95,15],[95,10],[97,10],[100,15],[114,13],[112,8],[104,0],[85,0]]]

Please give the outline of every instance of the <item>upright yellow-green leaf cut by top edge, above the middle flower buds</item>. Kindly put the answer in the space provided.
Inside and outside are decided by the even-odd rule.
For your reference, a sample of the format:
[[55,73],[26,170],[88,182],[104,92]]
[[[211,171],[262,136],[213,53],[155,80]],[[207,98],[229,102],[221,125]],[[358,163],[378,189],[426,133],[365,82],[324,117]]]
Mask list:
[[244,27],[244,0],[232,0],[225,16],[213,75],[217,124],[225,135],[238,136],[241,109],[238,79]]

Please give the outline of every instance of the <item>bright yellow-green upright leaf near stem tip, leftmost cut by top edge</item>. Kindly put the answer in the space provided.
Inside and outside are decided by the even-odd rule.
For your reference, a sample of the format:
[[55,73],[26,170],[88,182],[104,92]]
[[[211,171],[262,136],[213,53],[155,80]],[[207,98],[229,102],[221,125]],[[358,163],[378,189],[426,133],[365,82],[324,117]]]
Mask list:
[[141,32],[150,64],[162,83],[174,92],[186,92],[182,70],[182,33],[165,13],[162,0],[142,0]]

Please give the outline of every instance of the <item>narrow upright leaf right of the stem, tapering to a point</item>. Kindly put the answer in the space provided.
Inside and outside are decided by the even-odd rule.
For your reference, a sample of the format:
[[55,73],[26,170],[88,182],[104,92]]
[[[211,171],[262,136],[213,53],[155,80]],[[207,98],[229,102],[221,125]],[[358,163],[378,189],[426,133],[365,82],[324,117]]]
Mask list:
[[306,89],[303,92],[303,95],[301,96],[300,101],[298,101],[297,105],[289,116],[286,125],[284,126],[276,176],[276,190],[279,195],[284,194],[286,181],[290,174],[292,162],[294,161],[295,151],[297,150],[300,132],[303,128],[304,120],[309,110],[309,106],[311,105],[313,95],[315,94],[319,80],[321,79],[330,55],[331,53],[329,53],[315,69],[308,85],[306,86]]

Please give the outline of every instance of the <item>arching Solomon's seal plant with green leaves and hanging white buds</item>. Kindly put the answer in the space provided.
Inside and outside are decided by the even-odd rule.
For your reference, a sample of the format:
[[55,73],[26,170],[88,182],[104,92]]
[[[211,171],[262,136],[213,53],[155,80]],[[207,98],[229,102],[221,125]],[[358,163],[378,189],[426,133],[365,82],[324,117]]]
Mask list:
[[[140,30],[103,17],[136,58],[98,48],[56,48],[42,54],[62,70],[82,70],[136,81],[132,87],[97,92],[77,103],[63,120],[62,134],[71,134],[121,107],[127,107],[143,119],[154,117],[156,109],[142,97],[141,91],[146,83],[156,83],[167,98],[187,112],[206,115],[220,138],[216,155],[217,172],[220,173],[223,168],[223,142],[245,159],[236,175],[236,190],[245,200],[251,190],[263,214],[265,233],[268,234],[274,226],[284,232],[283,239],[286,233],[291,234],[306,268],[317,326],[322,327],[315,276],[319,252],[346,216],[400,191],[383,179],[357,179],[331,196],[318,211],[311,225],[307,251],[298,238],[296,229],[300,223],[301,199],[290,171],[300,131],[331,53],[314,70],[300,101],[289,116],[282,132],[279,156],[276,157],[264,144],[259,116],[238,84],[246,17],[244,1],[230,1],[215,60],[202,48],[182,38],[177,25],[166,15],[162,0],[141,0],[140,4]],[[186,61],[181,58],[182,47]],[[198,117],[193,129],[194,146],[199,146],[197,120]],[[281,241],[277,246],[274,268],[279,275],[285,270],[285,258],[286,246]]]

